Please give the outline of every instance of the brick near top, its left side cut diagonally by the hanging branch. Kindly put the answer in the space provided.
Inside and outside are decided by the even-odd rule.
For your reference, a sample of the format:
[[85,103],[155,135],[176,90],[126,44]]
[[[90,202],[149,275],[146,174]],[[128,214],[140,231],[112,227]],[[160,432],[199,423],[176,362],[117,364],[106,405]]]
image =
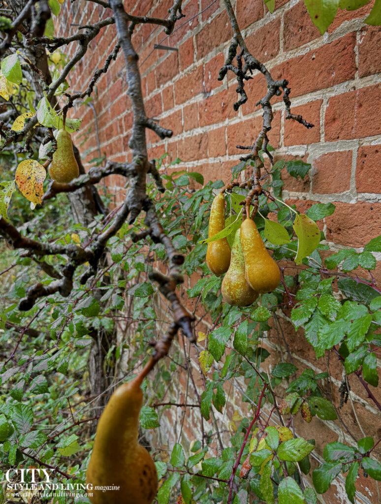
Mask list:
[[245,39],[253,56],[265,63],[279,53],[280,18],[267,23]]

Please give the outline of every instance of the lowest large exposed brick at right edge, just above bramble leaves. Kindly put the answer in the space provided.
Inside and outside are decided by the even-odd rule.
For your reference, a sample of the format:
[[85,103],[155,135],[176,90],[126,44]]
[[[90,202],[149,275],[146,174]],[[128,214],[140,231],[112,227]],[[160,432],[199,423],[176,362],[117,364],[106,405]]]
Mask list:
[[327,240],[343,245],[363,247],[379,235],[381,203],[334,202],[335,212],[326,217]]

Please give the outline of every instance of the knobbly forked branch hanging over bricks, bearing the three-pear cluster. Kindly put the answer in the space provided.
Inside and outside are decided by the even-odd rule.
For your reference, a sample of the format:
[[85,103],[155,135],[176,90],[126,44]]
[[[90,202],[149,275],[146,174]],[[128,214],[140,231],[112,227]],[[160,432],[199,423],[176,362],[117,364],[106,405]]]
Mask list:
[[[268,191],[264,191],[262,189],[262,186],[260,184],[260,179],[261,179],[261,169],[263,168],[264,164],[263,161],[261,160],[260,153],[263,151],[266,153],[266,155],[269,157],[271,164],[273,164],[273,157],[269,153],[267,146],[269,143],[269,138],[268,138],[268,132],[271,130],[271,122],[274,118],[272,106],[270,103],[270,100],[274,96],[280,96],[283,91],[283,102],[285,104],[286,108],[286,119],[293,119],[299,122],[300,124],[303,124],[307,129],[313,128],[313,124],[310,122],[307,122],[301,115],[295,115],[292,114],[290,111],[291,107],[291,102],[289,99],[289,94],[290,94],[290,88],[288,88],[288,81],[286,79],[282,79],[279,81],[275,81],[270,72],[267,70],[265,65],[261,63],[257,58],[252,56],[250,52],[247,49],[247,46],[243,40],[242,34],[239,30],[238,23],[233,11],[233,8],[231,6],[230,0],[224,0],[226,12],[229,17],[229,21],[231,24],[231,27],[233,29],[233,39],[230,43],[229,50],[228,50],[228,55],[225,61],[225,64],[222,66],[219,75],[218,75],[218,80],[222,81],[228,71],[233,72],[236,77],[237,77],[237,82],[238,86],[236,88],[236,92],[240,95],[240,99],[236,101],[233,105],[234,110],[238,110],[243,103],[247,101],[247,95],[244,90],[244,81],[247,81],[251,79],[247,73],[249,72],[250,75],[252,74],[253,71],[258,70],[263,74],[267,81],[267,89],[268,92],[266,96],[264,96],[256,105],[261,105],[263,109],[263,125],[262,125],[262,130],[259,133],[257,140],[253,143],[253,145],[250,145],[248,147],[244,147],[241,145],[237,145],[236,147],[238,149],[243,149],[243,150],[249,150],[250,153],[247,154],[246,156],[242,156],[240,158],[241,161],[247,162],[247,161],[253,161],[253,170],[252,174],[249,180],[247,180],[244,184],[239,184],[240,187],[244,187],[250,190],[247,198],[245,199],[244,203],[242,203],[245,207],[245,214],[246,217],[249,218],[249,209],[250,205],[253,204],[254,208],[251,214],[251,218],[255,217],[257,210],[258,210],[258,197],[260,194],[265,194],[267,198],[272,200],[272,197]],[[237,48],[240,48],[240,52],[236,55]],[[233,65],[233,59],[237,61],[237,66],[235,67]],[[230,190],[234,185],[230,184],[223,191]]]

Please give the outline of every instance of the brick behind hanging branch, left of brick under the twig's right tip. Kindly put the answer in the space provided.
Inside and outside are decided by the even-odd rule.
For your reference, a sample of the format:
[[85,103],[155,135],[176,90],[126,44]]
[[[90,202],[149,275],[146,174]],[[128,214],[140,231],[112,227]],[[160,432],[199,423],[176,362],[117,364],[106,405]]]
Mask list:
[[[228,154],[241,154],[247,151],[237,149],[236,145],[252,145],[262,130],[262,117],[255,117],[227,127]],[[272,129],[268,133],[270,145],[274,148],[279,146],[280,141],[280,112],[275,112]]]

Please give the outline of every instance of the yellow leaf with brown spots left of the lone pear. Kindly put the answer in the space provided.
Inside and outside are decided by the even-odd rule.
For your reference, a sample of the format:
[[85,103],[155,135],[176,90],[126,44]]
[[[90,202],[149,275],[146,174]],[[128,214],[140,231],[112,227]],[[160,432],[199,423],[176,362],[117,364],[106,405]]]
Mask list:
[[45,178],[45,168],[34,159],[21,161],[15,174],[21,194],[34,204],[42,203],[44,195],[42,184]]

